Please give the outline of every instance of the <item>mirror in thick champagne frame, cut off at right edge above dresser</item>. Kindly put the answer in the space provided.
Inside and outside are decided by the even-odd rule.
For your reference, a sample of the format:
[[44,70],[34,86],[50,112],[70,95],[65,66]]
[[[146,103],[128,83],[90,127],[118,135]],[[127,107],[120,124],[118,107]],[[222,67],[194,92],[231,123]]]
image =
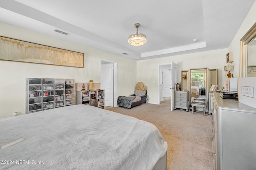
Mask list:
[[256,76],[256,23],[240,40],[240,77]]

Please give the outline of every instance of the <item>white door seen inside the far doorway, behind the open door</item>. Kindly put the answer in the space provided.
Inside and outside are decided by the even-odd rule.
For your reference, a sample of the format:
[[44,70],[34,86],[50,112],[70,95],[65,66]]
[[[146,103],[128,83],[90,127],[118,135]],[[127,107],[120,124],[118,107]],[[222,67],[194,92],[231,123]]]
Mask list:
[[163,97],[171,97],[171,70],[162,70]]

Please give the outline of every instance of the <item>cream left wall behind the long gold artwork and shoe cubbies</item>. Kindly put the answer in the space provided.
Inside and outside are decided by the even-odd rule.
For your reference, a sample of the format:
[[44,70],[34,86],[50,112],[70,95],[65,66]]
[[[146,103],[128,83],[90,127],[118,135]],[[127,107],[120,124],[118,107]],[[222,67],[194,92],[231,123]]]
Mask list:
[[92,79],[100,83],[100,59],[117,62],[117,96],[134,93],[135,60],[2,22],[0,28],[1,36],[84,53],[84,68],[0,60],[0,118],[11,117],[15,111],[20,115],[25,114],[26,78],[74,78],[76,83]]

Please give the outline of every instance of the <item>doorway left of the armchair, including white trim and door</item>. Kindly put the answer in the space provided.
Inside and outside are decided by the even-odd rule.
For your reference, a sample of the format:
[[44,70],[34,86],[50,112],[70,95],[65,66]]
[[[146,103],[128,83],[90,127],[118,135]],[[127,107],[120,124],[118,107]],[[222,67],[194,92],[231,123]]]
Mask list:
[[105,90],[105,106],[118,107],[117,101],[117,63],[114,61],[100,60],[100,89]]

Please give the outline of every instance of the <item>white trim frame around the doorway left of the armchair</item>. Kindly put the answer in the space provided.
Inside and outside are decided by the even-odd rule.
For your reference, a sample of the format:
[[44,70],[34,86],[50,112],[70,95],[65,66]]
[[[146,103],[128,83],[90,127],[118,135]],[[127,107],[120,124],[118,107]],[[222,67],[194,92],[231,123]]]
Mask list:
[[114,64],[114,85],[113,85],[114,94],[113,94],[113,97],[114,97],[114,107],[118,107],[118,105],[117,105],[117,62],[116,61],[105,60],[105,59],[100,59],[100,83],[102,83],[101,82],[102,81],[102,79],[101,79],[102,61]]

